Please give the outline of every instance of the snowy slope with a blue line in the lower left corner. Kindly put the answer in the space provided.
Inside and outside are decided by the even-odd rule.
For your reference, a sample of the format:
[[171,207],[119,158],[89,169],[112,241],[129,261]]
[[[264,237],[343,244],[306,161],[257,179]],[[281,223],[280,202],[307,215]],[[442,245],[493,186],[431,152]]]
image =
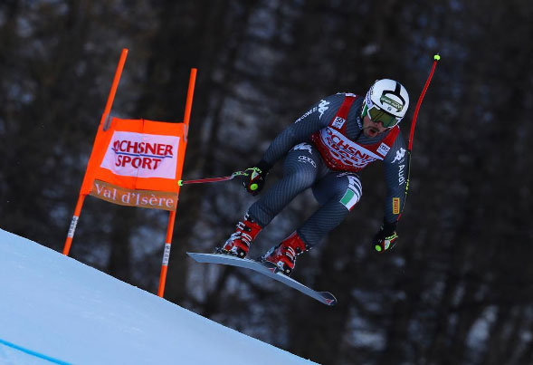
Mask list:
[[0,229],[0,364],[309,364]]

